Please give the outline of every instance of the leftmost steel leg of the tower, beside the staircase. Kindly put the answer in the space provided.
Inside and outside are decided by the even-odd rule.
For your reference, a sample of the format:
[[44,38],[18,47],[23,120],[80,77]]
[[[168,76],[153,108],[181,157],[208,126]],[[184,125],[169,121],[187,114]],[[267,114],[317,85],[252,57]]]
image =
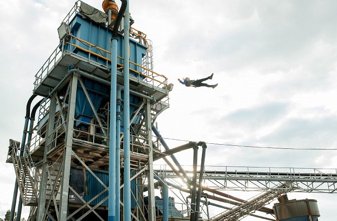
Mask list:
[[[54,122],[55,122],[55,111],[56,111],[56,93],[53,93],[50,99],[49,105],[49,117],[48,117],[48,126],[46,132],[46,141],[43,154],[43,163],[42,163],[42,173],[40,181],[40,190],[39,190],[39,201],[38,201],[38,218],[37,220],[44,220],[45,206],[46,206],[46,192],[47,192],[47,181],[48,181],[48,164],[47,164],[47,152],[48,145],[52,141],[52,134],[54,132]],[[51,197],[51,196],[50,196]],[[48,208],[47,208],[48,209]]]

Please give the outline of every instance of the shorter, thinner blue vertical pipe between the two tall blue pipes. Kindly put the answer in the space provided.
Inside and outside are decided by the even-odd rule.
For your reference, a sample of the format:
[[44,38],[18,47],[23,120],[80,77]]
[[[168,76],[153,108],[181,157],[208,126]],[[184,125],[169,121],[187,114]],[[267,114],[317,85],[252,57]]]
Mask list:
[[115,171],[116,171],[116,191],[115,191],[115,220],[120,220],[120,121],[121,121],[121,87],[117,86],[117,107],[116,107],[116,163],[115,163]]

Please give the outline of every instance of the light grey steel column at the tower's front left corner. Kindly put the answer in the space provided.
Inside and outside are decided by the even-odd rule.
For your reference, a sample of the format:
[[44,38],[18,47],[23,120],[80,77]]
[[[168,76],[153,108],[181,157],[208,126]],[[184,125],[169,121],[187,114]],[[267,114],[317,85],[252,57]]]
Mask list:
[[72,155],[72,144],[73,144],[73,127],[74,127],[74,117],[75,117],[75,106],[76,106],[76,90],[77,90],[78,74],[74,73],[70,80],[70,91],[69,91],[69,104],[68,104],[68,114],[67,114],[67,126],[66,126],[66,140],[65,149],[63,153],[63,173],[62,173],[62,184],[60,187],[60,203],[59,203],[59,220],[67,220],[68,212],[68,194],[69,194],[69,176],[70,176],[70,164]]

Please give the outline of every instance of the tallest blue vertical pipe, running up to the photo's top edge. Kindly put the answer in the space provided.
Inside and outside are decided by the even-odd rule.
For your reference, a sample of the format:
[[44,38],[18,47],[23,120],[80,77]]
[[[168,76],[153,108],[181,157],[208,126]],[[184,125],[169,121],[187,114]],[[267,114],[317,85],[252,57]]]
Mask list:
[[130,190],[130,85],[129,85],[129,0],[124,13],[124,220],[131,220]]

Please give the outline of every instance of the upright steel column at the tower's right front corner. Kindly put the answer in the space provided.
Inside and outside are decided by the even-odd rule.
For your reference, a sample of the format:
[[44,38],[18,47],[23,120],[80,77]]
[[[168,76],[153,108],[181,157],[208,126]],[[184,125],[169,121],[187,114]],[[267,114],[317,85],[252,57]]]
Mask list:
[[155,177],[154,177],[154,157],[152,146],[152,130],[151,130],[151,104],[150,100],[146,100],[146,130],[148,135],[148,169],[147,169],[147,182],[148,182],[148,220],[156,220],[156,207],[155,207]]

